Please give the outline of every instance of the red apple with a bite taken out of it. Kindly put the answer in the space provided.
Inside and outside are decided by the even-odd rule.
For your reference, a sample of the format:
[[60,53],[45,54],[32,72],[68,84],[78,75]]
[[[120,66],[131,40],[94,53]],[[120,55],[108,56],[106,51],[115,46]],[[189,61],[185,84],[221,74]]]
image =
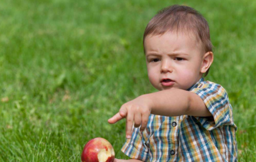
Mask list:
[[85,145],[81,155],[82,162],[113,162],[114,149],[104,138],[93,138]]

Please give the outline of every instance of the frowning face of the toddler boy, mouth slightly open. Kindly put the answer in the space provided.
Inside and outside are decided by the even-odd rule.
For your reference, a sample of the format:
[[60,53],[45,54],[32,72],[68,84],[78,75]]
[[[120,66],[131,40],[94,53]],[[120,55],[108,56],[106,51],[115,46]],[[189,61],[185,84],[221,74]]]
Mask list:
[[[185,34],[167,32],[145,37],[150,83],[158,90],[189,89],[202,77],[200,69],[203,59],[200,47],[194,37]],[[167,78],[170,80],[163,81]]]

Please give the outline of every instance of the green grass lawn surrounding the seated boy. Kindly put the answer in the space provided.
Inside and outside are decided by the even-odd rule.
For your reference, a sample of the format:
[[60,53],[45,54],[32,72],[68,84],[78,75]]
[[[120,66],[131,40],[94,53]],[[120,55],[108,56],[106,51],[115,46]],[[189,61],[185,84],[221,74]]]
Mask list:
[[155,13],[187,4],[208,20],[215,61],[206,79],[228,92],[239,161],[256,161],[254,1],[0,1],[0,161],[80,161],[103,137],[117,158],[120,106],[156,91],[142,37]]

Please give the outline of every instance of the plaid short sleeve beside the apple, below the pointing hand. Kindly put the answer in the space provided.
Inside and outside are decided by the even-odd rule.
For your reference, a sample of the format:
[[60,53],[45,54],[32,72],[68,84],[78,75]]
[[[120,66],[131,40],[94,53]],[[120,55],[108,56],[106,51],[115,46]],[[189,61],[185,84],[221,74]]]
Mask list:
[[145,145],[139,128],[133,128],[132,138],[126,139],[121,151],[132,159],[147,161],[148,147]]

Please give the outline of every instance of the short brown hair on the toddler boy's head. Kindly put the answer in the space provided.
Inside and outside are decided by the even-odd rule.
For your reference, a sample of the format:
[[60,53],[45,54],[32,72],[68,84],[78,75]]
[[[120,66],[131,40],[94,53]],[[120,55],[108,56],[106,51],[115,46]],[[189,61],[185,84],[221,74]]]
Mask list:
[[[194,8],[174,5],[160,10],[149,21],[144,31],[143,45],[147,35],[163,35],[167,31],[174,31],[175,33],[190,31],[197,41],[201,41],[204,53],[212,52],[213,46],[210,40],[208,23]],[[210,68],[205,73],[205,76],[209,70]]]

